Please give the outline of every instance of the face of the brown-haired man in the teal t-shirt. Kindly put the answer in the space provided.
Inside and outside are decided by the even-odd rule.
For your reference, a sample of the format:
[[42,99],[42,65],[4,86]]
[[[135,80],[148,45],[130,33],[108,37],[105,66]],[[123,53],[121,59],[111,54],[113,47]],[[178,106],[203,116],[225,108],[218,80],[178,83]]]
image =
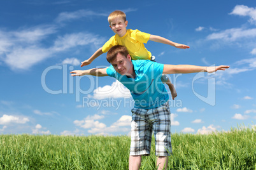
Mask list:
[[131,56],[128,55],[127,58],[124,55],[117,54],[117,58],[113,62],[111,62],[116,72],[121,75],[132,75],[133,67],[131,62]]

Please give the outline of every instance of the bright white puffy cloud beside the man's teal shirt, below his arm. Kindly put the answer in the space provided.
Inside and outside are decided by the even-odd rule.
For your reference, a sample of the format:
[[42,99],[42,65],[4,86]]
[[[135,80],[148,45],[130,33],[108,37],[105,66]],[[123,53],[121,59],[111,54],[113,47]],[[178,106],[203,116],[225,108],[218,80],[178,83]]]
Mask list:
[[104,98],[130,98],[131,93],[129,89],[125,88],[125,86],[119,82],[115,81],[111,84],[111,86],[106,85],[102,88],[99,87],[94,90],[94,94],[89,97],[101,100]]

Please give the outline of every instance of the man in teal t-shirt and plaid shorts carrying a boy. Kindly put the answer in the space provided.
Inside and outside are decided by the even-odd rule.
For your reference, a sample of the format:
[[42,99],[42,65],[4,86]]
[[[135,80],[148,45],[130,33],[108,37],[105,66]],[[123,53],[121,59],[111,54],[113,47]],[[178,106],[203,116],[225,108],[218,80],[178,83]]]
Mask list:
[[129,169],[139,169],[141,155],[150,155],[152,131],[158,169],[167,169],[171,154],[171,121],[169,96],[160,80],[162,74],[216,72],[229,66],[201,67],[196,65],[164,65],[150,60],[131,60],[124,46],[113,46],[107,53],[110,67],[74,70],[72,76],[94,75],[115,77],[131,91],[134,99],[131,123]]

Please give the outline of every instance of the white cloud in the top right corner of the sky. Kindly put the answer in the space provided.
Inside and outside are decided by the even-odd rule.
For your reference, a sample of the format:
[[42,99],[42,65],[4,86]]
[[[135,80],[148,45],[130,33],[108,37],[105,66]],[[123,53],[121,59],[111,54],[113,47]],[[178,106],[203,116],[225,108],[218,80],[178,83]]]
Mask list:
[[245,5],[237,5],[230,13],[231,15],[250,16],[250,22],[256,21],[256,8],[249,8]]

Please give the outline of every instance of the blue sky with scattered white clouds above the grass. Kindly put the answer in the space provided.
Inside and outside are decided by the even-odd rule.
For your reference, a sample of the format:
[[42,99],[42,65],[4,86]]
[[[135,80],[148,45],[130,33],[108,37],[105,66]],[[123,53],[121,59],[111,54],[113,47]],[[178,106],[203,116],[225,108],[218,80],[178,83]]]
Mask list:
[[[230,65],[216,74],[169,75],[171,132],[229,131],[256,122],[255,1],[1,1],[0,134],[129,134],[132,98],[111,77],[71,77],[114,33],[127,29],[187,44],[148,42],[159,63]],[[109,66],[106,54],[82,69]]]

